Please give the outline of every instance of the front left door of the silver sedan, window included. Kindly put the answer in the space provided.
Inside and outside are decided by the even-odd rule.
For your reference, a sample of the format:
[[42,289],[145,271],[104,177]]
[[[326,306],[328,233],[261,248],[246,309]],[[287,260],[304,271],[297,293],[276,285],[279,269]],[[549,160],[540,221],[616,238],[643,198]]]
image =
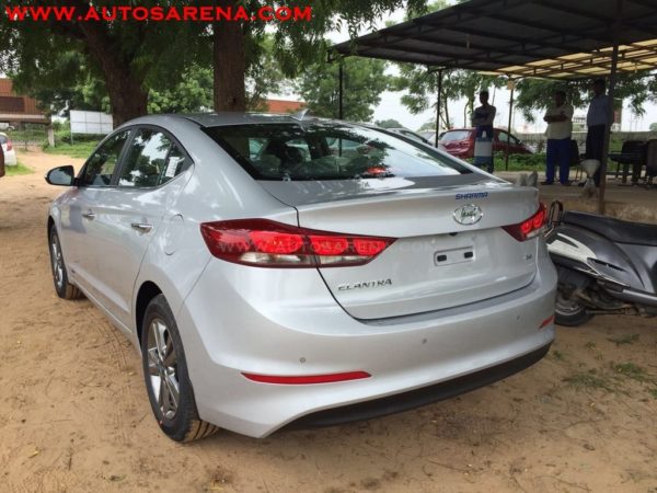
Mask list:
[[60,241],[71,280],[101,301],[105,291],[101,265],[104,254],[103,228],[99,213],[113,191],[129,130],[110,136],[89,158],[61,208]]

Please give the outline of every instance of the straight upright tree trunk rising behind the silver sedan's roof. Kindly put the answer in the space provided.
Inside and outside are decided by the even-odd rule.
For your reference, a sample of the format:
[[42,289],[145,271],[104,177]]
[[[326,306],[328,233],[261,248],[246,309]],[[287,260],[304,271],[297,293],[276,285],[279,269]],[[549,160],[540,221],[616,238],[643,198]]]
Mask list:
[[[238,2],[219,0],[217,7],[232,7]],[[215,60],[215,111],[246,111],[246,58],[244,54],[244,33],[241,22],[216,22],[214,30]]]

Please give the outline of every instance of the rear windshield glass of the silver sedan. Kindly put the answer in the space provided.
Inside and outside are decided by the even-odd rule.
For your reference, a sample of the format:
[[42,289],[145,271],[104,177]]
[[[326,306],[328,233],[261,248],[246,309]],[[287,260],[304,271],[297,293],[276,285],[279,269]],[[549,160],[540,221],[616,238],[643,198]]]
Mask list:
[[458,160],[383,131],[333,123],[205,128],[256,180],[435,176],[472,171]]

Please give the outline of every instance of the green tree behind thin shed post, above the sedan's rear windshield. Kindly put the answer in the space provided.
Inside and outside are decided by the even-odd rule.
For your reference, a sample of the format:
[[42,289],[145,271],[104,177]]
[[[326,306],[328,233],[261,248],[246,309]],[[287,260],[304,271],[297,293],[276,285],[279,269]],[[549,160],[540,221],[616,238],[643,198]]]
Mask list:
[[[345,119],[370,122],[373,106],[390,85],[385,62],[371,58],[346,58],[343,61],[343,107]],[[339,64],[316,62],[299,78],[297,90],[307,107],[318,116],[338,117]]]

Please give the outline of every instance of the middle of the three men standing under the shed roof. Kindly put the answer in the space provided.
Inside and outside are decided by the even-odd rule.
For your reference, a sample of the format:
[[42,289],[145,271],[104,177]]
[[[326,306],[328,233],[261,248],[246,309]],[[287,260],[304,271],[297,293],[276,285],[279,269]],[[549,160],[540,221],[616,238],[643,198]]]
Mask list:
[[573,105],[566,102],[566,93],[554,93],[554,106],[548,108],[543,117],[548,122],[548,162],[545,167],[545,181],[542,185],[554,183],[554,170],[558,164],[558,181],[562,185],[569,185],[570,172],[570,137],[573,135]]

